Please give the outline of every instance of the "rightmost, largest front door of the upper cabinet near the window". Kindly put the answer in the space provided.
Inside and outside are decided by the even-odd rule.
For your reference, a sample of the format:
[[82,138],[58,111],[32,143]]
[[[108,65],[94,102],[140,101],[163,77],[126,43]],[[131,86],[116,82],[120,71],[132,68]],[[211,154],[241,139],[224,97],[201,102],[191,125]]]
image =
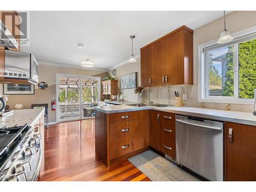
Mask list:
[[183,30],[165,38],[166,85],[184,84]]

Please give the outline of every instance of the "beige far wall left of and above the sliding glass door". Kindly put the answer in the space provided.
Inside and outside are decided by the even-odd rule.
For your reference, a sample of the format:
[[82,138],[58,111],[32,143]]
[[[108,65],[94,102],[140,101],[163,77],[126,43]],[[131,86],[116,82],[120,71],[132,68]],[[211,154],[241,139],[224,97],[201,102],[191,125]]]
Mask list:
[[56,113],[55,111],[52,111],[50,109],[51,101],[54,100],[53,95],[55,95],[55,90],[56,90],[55,89],[56,73],[70,74],[70,75],[98,76],[98,77],[101,77],[101,79],[106,75],[109,76],[108,72],[104,72],[104,71],[93,71],[93,70],[85,70],[85,69],[41,65],[41,62],[39,62],[39,82],[40,81],[47,82],[48,88],[46,90],[40,90],[36,85],[34,95],[9,95],[7,104],[9,105],[10,109],[14,110],[15,109],[14,106],[17,103],[22,103],[24,105],[24,109],[30,109],[31,104],[33,103],[48,103],[49,122],[56,122],[56,115],[55,115]]

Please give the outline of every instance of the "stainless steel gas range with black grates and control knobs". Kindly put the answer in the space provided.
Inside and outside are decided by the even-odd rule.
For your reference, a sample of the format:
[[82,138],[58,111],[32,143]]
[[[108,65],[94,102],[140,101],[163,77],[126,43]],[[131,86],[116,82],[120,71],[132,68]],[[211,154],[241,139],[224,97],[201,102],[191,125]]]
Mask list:
[[28,124],[0,129],[0,181],[36,181],[42,148]]

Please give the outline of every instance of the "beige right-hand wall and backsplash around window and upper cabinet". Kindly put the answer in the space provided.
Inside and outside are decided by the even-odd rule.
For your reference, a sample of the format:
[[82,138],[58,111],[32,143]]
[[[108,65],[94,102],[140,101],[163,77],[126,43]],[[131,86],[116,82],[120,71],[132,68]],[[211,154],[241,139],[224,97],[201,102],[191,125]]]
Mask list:
[[[246,28],[256,26],[256,11],[235,11],[226,16],[226,28],[230,33],[238,32]],[[223,30],[223,18],[217,19],[203,27],[194,30],[194,86],[184,86],[187,94],[186,106],[200,107],[198,102],[198,45],[219,38]],[[139,60],[139,59],[138,59]],[[138,72],[140,74],[140,62],[127,63],[117,68],[117,76]],[[109,71],[112,74],[112,71]],[[139,76],[139,75],[138,75]],[[139,77],[140,79],[140,77]],[[140,85],[140,81],[139,84]],[[170,104],[174,104],[174,91],[178,91],[181,95],[181,87],[170,86]],[[157,99],[157,88],[151,88],[151,100],[153,102],[168,104],[168,87],[159,87],[159,98]],[[136,101],[137,97],[133,90],[121,90],[123,100]],[[147,101],[147,95],[143,96],[143,102]],[[206,108],[225,109],[223,103],[205,103]],[[253,105],[230,104],[230,110],[252,112]]]

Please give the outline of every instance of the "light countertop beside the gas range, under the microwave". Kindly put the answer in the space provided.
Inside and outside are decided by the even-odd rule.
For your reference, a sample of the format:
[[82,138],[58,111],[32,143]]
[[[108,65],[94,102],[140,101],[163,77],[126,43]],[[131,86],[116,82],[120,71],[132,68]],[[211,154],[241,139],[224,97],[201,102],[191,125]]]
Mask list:
[[42,113],[45,113],[44,108],[26,109],[26,110],[13,110],[13,114],[0,117],[0,128],[3,126],[24,125],[34,126]]

